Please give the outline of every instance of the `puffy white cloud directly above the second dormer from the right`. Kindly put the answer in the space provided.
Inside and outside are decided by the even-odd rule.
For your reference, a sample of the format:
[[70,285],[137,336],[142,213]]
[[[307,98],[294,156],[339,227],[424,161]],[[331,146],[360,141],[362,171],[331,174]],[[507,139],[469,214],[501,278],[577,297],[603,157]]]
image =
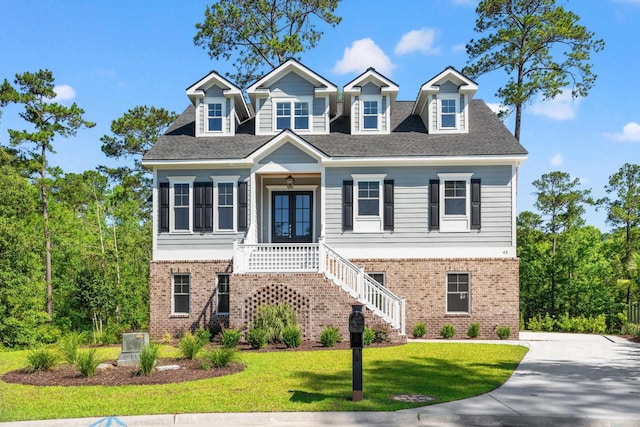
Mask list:
[[370,38],[356,40],[344,49],[342,59],[336,62],[333,72],[337,74],[361,73],[373,67],[389,77],[396,66],[380,47]]

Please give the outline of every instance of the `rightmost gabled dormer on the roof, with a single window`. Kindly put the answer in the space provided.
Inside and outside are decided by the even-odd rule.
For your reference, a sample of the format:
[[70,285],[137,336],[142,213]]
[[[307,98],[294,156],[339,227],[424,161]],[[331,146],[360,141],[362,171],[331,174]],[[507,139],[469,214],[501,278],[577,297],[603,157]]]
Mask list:
[[467,133],[469,101],[477,90],[476,82],[447,67],[420,87],[413,114],[422,118],[429,133]]

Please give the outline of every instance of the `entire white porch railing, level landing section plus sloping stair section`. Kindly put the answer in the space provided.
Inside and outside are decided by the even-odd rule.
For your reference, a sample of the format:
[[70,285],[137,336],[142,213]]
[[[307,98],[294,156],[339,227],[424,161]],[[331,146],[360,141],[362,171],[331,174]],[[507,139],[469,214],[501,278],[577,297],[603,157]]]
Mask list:
[[235,243],[237,273],[323,273],[335,284],[388,322],[405,331],[405,299],[380,285],[364,269],[320,243]]

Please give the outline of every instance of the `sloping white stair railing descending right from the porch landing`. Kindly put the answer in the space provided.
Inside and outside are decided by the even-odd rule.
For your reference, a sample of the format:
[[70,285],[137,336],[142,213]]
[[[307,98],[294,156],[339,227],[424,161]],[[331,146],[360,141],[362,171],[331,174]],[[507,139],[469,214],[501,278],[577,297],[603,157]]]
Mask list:
[[320,266],[325,276],[405,335],[405,299],[376,282],[364,269],[320,243]]

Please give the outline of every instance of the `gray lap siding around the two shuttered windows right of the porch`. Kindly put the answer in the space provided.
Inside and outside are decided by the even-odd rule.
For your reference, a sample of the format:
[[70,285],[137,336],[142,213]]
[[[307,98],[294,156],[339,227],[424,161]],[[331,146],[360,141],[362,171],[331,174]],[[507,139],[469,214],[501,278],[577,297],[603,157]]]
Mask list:
[[[437,248],[469,246],[511,246],[511,167],[413,167],[413,168],[328,168],[326,169],[326,238],[340,246]],[[438,173],[470,173],[482,180],[482,229],[480,232],[445,233],[428,230],[428,185]],[[342,232],[342,182],[351,174],[386,174],[394,180],[395,227],[393,232]],[[354,200],[355,203],[355,200]]]

